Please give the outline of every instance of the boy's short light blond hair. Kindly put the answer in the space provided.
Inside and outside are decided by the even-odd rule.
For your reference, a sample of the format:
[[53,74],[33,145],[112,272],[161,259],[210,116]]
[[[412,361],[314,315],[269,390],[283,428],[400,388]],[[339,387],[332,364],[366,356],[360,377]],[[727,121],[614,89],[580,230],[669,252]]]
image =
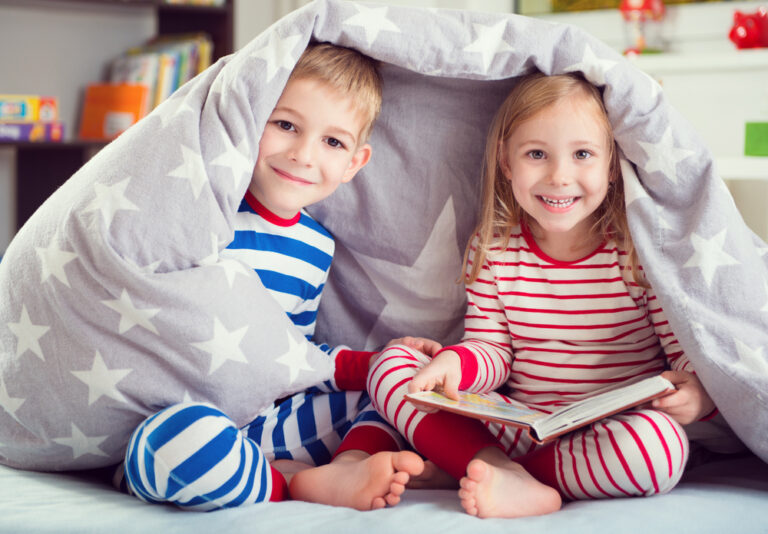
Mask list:
[[378,61],[357,50],[330,43],[311,42],[291,72],[290,80],[312,79],[347,96],[363,117],[360,144],[373,129],[381,111],[381,75]]

